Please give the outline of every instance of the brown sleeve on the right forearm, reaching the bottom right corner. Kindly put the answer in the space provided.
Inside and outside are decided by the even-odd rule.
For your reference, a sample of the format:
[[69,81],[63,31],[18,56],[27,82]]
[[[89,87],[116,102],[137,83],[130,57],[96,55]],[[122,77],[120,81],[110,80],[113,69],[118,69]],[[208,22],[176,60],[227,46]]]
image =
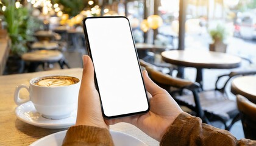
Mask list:
[[256,145],[256,141],[237,141],[229,131],[202,123],[199,117],[183,112],[169,126],[160,145]]

